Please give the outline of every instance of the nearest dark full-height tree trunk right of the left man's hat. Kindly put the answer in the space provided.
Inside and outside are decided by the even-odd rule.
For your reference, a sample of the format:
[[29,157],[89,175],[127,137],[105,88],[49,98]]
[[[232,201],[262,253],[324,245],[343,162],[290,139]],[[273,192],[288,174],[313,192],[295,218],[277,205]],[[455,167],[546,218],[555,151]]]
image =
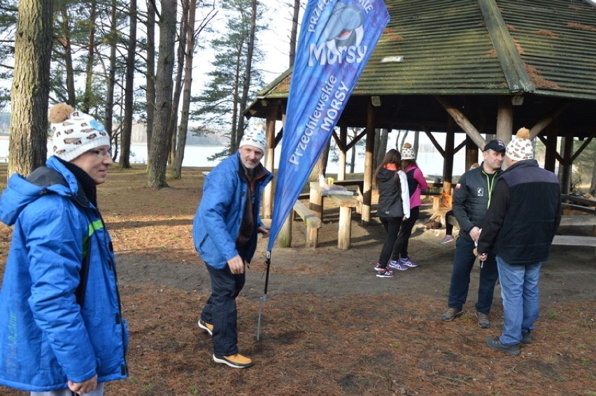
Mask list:
[[120,168],[130,168],[130,141],[132,136],[132,113],[134,104],[134,59],[136,57],[136,0],[130,0],[130,28],[126,59],[125,114],[122,119],[120,138]]

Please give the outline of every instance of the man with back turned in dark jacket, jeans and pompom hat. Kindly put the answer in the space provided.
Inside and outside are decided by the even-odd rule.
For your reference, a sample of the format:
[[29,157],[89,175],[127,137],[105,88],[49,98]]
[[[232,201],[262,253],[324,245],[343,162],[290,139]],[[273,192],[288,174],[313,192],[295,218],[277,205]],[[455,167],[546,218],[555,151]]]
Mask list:
[[530,131],[521,128],[507,145],[508,169],[497,182],[478,240],[481,260],[493,251],[497,255],[503,298],[503,332],[486,344],[513,356],[520,354],[520,342],[532,343],[540,267],[561,221],[559,180],[532,157]]

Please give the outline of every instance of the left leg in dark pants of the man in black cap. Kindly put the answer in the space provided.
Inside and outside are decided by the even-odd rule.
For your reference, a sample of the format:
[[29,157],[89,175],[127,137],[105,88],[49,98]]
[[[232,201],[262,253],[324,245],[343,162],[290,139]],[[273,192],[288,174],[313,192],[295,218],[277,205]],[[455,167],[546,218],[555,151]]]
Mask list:
[[474,260],[476,260],[474,242],[458,238],[455,242],[455,257],[453,258],[453,271],[451,272],[447,302],[450,308],[461,310],[466,303]]

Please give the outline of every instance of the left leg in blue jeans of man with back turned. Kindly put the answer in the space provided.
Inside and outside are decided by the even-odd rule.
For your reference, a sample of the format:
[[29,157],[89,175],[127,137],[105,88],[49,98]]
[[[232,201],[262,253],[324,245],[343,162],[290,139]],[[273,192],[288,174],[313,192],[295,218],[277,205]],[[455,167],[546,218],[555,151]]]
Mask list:
[[497,267],[503,298],[503,332],[499,341],[504,345],[517,345],[522,339],[525,266],[509,265],[497,257]]

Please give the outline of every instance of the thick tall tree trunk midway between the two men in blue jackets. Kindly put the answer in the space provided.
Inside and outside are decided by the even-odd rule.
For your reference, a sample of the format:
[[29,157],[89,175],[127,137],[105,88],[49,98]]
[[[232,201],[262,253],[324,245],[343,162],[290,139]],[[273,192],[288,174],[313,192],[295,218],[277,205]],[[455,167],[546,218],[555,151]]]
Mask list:
[[155,76],[155,124],[148,157],[147,186],[167,187],[168,124],[172,105],[174,41],[176,40],[177,0],[163,0],[159,18],[159,59]]

